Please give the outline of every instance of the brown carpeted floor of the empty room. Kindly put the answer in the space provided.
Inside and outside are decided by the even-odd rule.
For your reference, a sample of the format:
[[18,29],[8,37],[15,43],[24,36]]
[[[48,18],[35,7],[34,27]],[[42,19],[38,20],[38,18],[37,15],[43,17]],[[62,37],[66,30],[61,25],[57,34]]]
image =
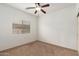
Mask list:
[[2,53],[8,53],[11,56],[77,56],[78,52],[62,48],[56,45],[35,41],[16,48],[8,49]]

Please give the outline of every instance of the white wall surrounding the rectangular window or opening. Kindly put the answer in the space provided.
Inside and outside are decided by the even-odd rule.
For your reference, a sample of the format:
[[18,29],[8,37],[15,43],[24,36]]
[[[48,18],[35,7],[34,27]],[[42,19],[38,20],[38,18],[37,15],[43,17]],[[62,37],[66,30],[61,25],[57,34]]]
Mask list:
[[[13,34],[12,23],[21,20],[30,21],[31,32],[26,34]],[[37,17],[0,4],[0,51],[18,45],[26,44],[37,39]]]

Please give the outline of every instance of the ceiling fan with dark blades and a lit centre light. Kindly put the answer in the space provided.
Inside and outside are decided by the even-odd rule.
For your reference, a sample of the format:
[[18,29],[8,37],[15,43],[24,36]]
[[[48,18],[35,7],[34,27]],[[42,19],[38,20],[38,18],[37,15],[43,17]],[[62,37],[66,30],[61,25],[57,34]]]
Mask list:
[[42,8],[49,7],[49,4],[41,5],[40,3],[35,3],[35,7],[27,7],[26,9],[35,9],[34,14],[36,14],[38,11],[43,12],[46,14],[46,11],[44,11]]

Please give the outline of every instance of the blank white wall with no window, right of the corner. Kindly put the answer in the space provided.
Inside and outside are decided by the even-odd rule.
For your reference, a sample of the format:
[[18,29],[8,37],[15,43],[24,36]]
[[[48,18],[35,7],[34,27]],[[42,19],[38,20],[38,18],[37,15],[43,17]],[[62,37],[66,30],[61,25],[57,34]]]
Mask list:
[[39,17],[39,40],[77,50],[75,6]]

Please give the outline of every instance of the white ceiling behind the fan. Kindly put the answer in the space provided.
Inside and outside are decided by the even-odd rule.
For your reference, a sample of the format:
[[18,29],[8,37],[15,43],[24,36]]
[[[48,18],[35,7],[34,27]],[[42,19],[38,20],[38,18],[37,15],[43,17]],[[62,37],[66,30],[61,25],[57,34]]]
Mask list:
[[[46,3],[41,3],[41,5],[44,5]],[[30,9],[30,10],[27,10],[26,8],[27,7],[35,7],[35,4],[34,3],[8,3],[8,5],[14,7],[14,8],[17,8],[17,9],[20,9],[24,12],[27,12],[27,13],[30,13],[32,15],[43,15],[43,13],[41,11],[39,11],[37,14],[34,14],[34,9]],[[50,13],[50,12],[54,12],[54,11],[57,11],[59,9],[63,9],[63,8],[66,8],[66,7],[69,7],[69,6],[72,6],[72,5],[75,5],[74,3],[50,3],[50,6],[49,7],[46,7],[46,8],[43,8],[46,13]]]

